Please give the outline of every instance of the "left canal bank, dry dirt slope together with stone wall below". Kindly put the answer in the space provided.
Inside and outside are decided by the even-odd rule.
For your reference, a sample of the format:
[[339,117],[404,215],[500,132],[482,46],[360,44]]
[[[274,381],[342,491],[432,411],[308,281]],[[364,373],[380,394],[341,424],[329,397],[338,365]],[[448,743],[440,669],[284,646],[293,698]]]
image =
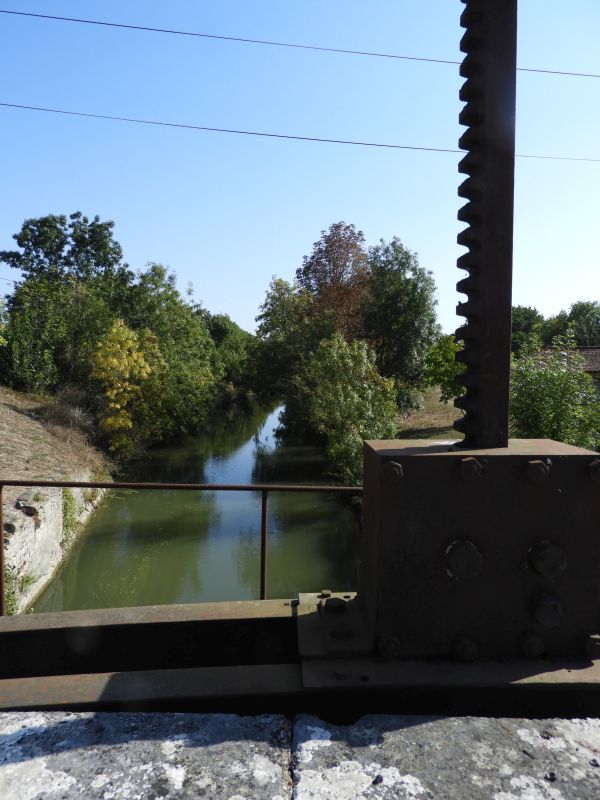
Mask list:
[[[0,386],[0,478],[109,479],[107,460],[86,436],[88,425],[85,412],[65,397],[33,397]],[[22,611],[46,586],[98,499],[90,490],[4,489],[12,613]]]

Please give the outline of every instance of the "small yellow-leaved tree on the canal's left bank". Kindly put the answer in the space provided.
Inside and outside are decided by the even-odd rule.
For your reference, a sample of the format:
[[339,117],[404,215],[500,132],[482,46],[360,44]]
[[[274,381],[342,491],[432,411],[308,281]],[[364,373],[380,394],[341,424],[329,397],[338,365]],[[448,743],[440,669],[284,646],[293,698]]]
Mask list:
[[104,387],[100,428],[108,436],[110,450],[125,454],[132,451],[133,421],[129,406],[140,392],[141,382],[151,372],[138,335],[118,319],[98,343],[92,373]]

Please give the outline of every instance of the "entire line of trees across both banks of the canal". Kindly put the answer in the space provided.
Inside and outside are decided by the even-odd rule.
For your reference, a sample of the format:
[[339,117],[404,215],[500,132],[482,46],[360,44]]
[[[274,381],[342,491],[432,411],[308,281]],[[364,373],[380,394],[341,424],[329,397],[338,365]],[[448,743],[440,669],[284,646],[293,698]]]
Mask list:
[[[273,278],[253,336],[183,297],[164,266],[134,272],[112,231],[49,215],[0,252],[21,271],[1,309],[0,381],[59,398],[117,455],[202,432],[256,398],[283,402],[281,434],[318,444],[356,483],[363,440],[393,437],[425,387],[444,402],[462,393],[462,342],[441,334],[432,273],[397,237],[367,247],[354,225],[321,231],[293,282]],[[600,303],[548,319],[515,306],[512,325],[513,430],[597,446],[599,405],[574,350],[600,346]]]

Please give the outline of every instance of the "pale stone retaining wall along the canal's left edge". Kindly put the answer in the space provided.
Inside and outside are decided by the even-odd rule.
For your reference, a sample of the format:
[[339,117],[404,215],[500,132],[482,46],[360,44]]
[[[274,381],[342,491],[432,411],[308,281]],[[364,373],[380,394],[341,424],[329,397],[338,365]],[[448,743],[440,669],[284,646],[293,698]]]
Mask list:
[[[79,475],[73,480],[91,478]],[[15,613],[25,611],[51,581],[101,497],[97,490],[40,488],[27,489],[5,504],[4,555],[15,589]]]

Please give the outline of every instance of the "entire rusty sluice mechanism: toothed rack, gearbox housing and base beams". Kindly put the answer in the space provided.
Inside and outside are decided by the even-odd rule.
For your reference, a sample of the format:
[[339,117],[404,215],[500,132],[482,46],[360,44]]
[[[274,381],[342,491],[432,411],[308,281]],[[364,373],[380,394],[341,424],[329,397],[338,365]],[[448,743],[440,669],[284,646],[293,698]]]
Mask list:
[[0,708],[600,713],[600,457],[509,440],[517,0],[462,1],[464,440],[365,443],[347,592],[0,620]]

